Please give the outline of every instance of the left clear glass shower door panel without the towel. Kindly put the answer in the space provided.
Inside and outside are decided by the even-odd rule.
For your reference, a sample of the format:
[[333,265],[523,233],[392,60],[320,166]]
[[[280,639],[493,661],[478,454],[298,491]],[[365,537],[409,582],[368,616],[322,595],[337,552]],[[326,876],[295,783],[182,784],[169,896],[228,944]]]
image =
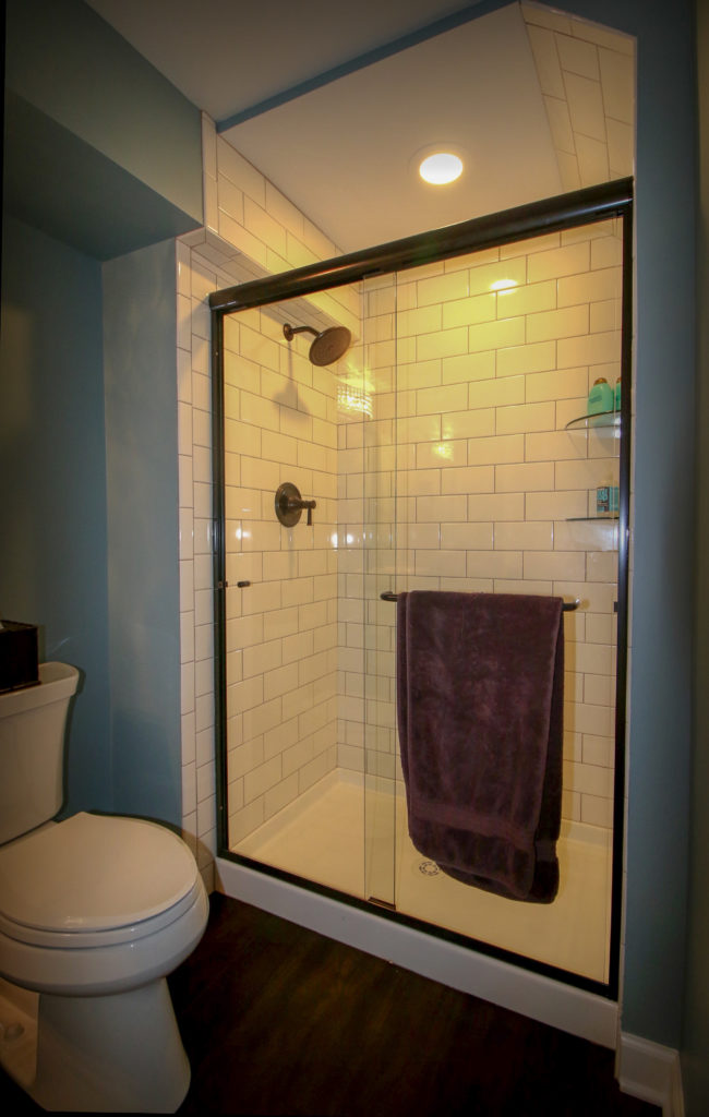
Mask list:
[[[360,306],[358,290],[343,288],[224,319],[229,844],[355,896],[363,809],[338,780],[338,637],[362,561],[338,517],[338,388]],[[323,351],[332,326],[352,333],[341,356]],[[301,508],[284,507],[282,486]],[[362,670],[364,651],[354,650]]]

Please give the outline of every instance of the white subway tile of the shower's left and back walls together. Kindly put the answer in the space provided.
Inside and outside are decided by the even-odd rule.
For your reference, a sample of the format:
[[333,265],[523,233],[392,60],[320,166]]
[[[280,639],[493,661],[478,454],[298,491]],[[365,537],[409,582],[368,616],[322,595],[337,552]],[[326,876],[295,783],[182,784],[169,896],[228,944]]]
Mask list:
[[[215,852],[208,295],[338,255],[204,117],[205,230],[178,242],[183,831]],[[352,328],[317,369],[287,306],[226,336],[228,809],[234,844],[334,766],[401,777],[386,589],[579,598],[566,632],[564,817],[612,825],[617,478],[569,432],[620,361],[614,222],[323,293]],[[495,286],[492,286],[495,285]],[[317,500],[288,529],[274,495]],[[243,590],[237,581],[249,581]]]

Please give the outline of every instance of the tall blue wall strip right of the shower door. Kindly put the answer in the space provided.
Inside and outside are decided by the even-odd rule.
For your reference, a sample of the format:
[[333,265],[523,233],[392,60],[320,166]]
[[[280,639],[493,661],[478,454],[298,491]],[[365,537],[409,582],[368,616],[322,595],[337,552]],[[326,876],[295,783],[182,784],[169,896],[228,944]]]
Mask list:
[[638,37],[634,576],[622,1027],[678,1048],[688,903],[694,516],[693,6],[569,0]]

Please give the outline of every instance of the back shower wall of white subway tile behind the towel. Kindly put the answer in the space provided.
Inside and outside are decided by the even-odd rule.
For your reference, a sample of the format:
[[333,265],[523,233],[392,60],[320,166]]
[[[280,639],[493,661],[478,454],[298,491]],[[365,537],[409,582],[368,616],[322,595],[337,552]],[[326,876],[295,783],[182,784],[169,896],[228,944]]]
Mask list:
[[563,813],[612,827],[617,525],[577,517],[617,485],[619,441],[565,424],[597,378],[620,375],[619,232],[606,221],[365,284],[365,343],[400,340],[402,319],[406,346],[373,419],[338,429],[341,540],[362,548],[339,552],[342,767],[401,779],[395,605],[381,591],[578,598]]

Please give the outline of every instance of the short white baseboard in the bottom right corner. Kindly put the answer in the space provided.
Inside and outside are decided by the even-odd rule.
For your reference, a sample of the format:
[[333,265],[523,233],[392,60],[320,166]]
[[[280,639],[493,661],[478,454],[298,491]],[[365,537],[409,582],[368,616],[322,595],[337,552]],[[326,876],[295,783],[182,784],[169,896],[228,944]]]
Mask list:
[[684,1117],[679,1051],[621,1032],[617,1080],[623,1094],[662,1107],[662,1117]]

